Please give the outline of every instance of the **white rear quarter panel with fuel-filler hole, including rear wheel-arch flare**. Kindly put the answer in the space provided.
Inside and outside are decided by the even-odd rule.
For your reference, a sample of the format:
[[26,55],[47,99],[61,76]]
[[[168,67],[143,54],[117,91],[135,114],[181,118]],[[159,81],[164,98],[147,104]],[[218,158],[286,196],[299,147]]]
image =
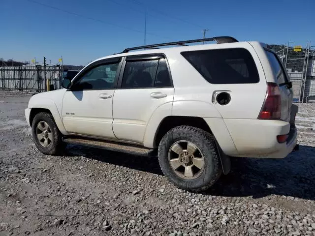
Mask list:
[[[230,127],[226,126],[226,120],[257,119],[266,96],[266,77],[255,47],[262,48],[260,44],[253,47],[248,42],[238,42],[209,45],[208,48],[180,47],[166,55],[175,88],[172,115],[204,118],[223,152],[228,155],[237,155],[238,150],[230,134]],[[211,84],[180,54],[183,51],[223,48],[247,49],[256,64],[259,82],[256,84]],[[228,105],[221,106],[212,102],[213,93],[217,90],[230,91],[231,102]],[[246,134],[241,132],[240,135]]]

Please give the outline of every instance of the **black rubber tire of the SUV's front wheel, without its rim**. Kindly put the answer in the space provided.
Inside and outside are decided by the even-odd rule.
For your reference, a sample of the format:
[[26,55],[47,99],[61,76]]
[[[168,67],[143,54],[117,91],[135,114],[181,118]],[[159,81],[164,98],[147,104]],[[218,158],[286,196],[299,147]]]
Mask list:
[[[52,140],[47,147],[43,147],[40,144],[36,134],[37,125],[41,121],[44,121],[49,125],[52,134]],[[46,155],[61,154],[64,150],[65,145],[62,141],[62,134],[60,133],[53,116],[49,113],[41,112],[35,115],[32,121],[32,136],[38,150]]]

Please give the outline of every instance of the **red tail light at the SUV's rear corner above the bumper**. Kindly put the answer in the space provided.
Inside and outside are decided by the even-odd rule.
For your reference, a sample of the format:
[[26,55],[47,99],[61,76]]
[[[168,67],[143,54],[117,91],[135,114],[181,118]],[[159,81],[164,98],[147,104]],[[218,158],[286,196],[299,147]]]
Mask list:
[[278,84],[267,83],[267,95],[259,119],[281,118],[281,95]]

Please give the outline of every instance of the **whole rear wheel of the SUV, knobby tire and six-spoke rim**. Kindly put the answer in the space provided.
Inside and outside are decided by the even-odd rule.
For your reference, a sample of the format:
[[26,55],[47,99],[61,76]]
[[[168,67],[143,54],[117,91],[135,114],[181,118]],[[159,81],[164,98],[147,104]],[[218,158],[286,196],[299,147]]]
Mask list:
[[214,137],[191,126],[175,127],[163,136],[158,162],[170,181],[195,192],[208,189],[222,172]]

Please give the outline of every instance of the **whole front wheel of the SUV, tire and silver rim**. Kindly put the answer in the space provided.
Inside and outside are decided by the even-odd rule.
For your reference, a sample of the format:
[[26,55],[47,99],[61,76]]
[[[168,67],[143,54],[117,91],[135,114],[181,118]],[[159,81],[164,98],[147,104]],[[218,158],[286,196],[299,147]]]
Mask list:
[[49,113],[38,113],[32,121],[32,136],[38,150],[47,155],[56,155],[64,149],[62,135]]

